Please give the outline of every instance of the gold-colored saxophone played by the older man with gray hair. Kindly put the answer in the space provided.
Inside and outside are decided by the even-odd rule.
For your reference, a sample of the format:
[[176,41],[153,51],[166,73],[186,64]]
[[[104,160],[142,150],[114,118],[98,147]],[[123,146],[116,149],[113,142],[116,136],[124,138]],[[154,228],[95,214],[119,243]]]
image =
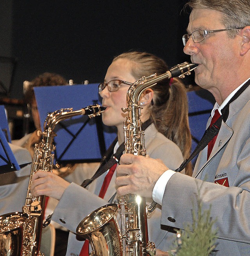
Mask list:
[[[157,82],[171,77],[189,75],[197,64],[187,62],[174,66],[166,73],[155,73],[134,82],[127,91],[128,112],[124,122],[125,152],[146,155],[144,131],[141,129],[141,107],[138,105],[143,91]],[[116,221],[116,204],[102,206],[85,217],[77,227],[76,233],[90,240],[95,256],[153,256],[155,245],[148,241],[147,214],[145,198],[139,195],[125,195],[118,198],[121,211],[121,232]]]

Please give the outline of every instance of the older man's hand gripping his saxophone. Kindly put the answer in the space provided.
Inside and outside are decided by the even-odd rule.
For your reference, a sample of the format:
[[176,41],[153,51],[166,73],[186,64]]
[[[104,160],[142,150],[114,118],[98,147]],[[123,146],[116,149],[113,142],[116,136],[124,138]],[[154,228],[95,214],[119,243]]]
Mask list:
[[168,170],[161,159],[123,154],[117,166],[118,195],[135,194],[152,197],[156,181]]

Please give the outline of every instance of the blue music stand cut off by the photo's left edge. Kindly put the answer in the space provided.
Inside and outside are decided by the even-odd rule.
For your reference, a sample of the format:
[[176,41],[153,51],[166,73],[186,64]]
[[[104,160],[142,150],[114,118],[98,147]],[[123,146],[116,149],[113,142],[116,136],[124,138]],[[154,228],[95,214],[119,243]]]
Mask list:
[[11,136],[3,105],[0,105],[0,120],[0,174],[4,174],[20,170],[20,166],[7,142],[10,141]]

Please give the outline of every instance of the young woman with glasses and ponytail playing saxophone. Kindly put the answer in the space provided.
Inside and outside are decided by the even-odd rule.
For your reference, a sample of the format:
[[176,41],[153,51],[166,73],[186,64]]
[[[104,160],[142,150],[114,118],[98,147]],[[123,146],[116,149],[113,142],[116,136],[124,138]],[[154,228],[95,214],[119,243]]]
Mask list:
[[[121,111],[127,106],[126,95],[129,86],[142,76],[152,73],[162,74],[168,70],[166,63],[155,55],[142,52],[127,52],[115,57],[109,66],[104,82],[99,85],[99,93],[102,97],[102,105],[106,107],[102,113],[105,125],[116,126],[118,140],[114,143],[111,152],[116,152],[124,141],[123,122],[126,113]],[[141,121],[145,131],[145,148],[152,158],[160,158],[162,161],[177,168],[183,158],[187,158],[191,147],[191,135],[188,127],[187,99],[184,85],[179,79],[166,79],[152,88],[143,92],[140,98]],[[112,154],[111,154],[112,155]],[[108,161],[111,156],[107,157]],[[75,170],[80,172],[80,165]],[[116,185],[114,183],[116,173],[112,175],[107,191],[103,197],[99,197],[100,190],[105,182],[107,172],[100,175],[86,188],[75,183],[68,183],[54,174],[37,172],[31,187],[32,195],[48,195],[59,200],[55,208],[52,220],[66,227],[70,233],[66,255],[78,255],[83,242],[77,240],[77,225],[87,214],[96,208],[116,202]],[[187,170],[186,170],[187,171]],[[89,179],[94,172],[82,173],[84,179]],[[73,174],[72,174],[73,175]],[[39,179],[38,179],[39,178]],[[151,202],[152,199],[147,199]],[[119,223],[119,214],[117,216]],[[161,229],[161,209],[156,208],[148,219],[148,235],[155,242],[157,249],[167,251],[174,238],[173,234]],[[166,229],[166,228],[165,228]],[[81,254],[80,254],[81,255]]]

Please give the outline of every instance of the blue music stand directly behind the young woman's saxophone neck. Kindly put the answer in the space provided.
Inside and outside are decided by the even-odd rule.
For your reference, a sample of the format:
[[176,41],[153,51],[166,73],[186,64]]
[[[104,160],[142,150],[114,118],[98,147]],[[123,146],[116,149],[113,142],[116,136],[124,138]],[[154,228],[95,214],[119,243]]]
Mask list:
[[[79,110],[100,104],[98,84],[34,87],[40,122],[48,113],[62,108]],[[101,116],[75,116],[55,127],[55,160],[57,163],[80,163],[100,161],[106,148],[116,137],[114,127],[102,124]]]

